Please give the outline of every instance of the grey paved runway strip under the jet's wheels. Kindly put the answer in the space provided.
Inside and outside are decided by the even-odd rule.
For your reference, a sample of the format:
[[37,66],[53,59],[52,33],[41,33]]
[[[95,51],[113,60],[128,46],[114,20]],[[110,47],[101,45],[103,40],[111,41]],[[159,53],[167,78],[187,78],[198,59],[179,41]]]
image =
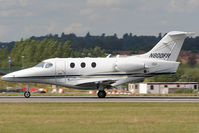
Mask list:
[[0,103],[46,103],[46,102],[196,102],[199,103],[199,97],[177,96],[113,96],[98,98],[94,96],[32,96],[24,98],[23,96],[0,96]]

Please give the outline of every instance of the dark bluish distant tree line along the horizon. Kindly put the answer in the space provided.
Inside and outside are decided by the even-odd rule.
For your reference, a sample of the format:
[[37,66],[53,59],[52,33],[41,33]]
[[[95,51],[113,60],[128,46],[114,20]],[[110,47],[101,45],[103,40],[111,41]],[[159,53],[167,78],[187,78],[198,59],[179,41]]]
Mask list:
[[[150,50],[161,38],[163,35],[159,33],[158,36],[137,36],[132,33],[126,33],[121,38],[114,35],[105,35],[100,36],[91,35],[89,32],[85,36],[76,36],[75,34],[48,34],[45,36],[32,36],[30,40],[42,41],[44,39],[54,40],[61,44],[64,44],[66,41],[71,41],[71,48],[73,50],[83,50],[90,49],[96,46],[105,49],[108,53],[112,53],[118,50],[133,50],[134,52],[139,50],[148,51]],[[7,48],[11,50],[16,42],[10,43],[0,43],[1,48]],[[183,50],[198,51],[199,50],[199,37],[187,38],[183,45]]]

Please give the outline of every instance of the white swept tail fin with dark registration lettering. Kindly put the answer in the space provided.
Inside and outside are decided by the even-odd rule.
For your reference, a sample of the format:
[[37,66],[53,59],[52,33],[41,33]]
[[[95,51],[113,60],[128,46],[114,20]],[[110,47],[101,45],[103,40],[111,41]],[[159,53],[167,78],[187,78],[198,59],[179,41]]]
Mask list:
[[153,49],[143,55],[143,58],[176,61],[186,37],[193,32],[172,31],[167,33]]

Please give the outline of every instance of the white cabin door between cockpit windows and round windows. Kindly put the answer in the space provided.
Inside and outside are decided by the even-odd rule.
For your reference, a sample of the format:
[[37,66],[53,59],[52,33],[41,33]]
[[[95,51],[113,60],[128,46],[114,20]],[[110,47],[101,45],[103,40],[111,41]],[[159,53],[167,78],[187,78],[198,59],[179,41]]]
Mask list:
[[65,61],[56,61],[56,82],[65,83],[66,82],[66,66]]

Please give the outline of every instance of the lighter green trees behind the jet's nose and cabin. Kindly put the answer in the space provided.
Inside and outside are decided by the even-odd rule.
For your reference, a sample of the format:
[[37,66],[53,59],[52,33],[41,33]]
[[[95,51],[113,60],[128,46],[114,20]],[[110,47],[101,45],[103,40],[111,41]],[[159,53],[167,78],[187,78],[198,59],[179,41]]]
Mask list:
[[[8,66],[8,57],[10,55],[12,59],[12,67],[31,67],[42,60],[49,58],[68,58],[68,57],[99,57],[105,56],[105,50],[100,47],[93,49],[73,50],[71,48],[71,42],[66,41],[60,43],[53,39],[43,40],[21,40],[16,42],[14,48],[9,53],[6,49],[0,49],[0,66],[6,68]],[[24,61],[22,61],[24,56]]]

